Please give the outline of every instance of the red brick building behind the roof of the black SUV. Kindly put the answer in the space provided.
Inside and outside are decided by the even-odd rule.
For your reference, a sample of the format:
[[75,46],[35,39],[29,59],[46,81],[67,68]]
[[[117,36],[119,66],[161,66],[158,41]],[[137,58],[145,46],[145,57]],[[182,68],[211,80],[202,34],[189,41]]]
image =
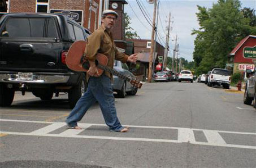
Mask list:
[[[2,1],[2,0],[1,0]],[[63,13],[94,31],[98,28],[99,0],[6,0],[10,13]]]

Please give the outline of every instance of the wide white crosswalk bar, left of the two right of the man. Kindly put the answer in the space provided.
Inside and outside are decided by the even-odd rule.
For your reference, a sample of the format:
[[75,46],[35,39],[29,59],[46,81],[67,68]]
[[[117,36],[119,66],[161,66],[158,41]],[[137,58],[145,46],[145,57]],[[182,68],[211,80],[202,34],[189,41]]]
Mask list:
[[178,129],[178,142],[196,142],[193,130],[189,128]]

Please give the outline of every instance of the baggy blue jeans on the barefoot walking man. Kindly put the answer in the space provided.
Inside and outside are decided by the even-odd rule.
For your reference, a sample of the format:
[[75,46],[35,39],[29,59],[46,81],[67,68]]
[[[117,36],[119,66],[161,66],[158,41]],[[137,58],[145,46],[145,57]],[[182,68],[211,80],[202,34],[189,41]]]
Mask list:
[[112,91],[111,79],[102,74],[99,77],[91,76],[89,79],[88,89],[84,95],[77,101],[76,106],[67,117],[68,126],[77,126],[85,115],[86,111],[98,101],[104,117],[104,120],[112,131],[120,131],[124,127],[120,124],[116,115],[115,98]]

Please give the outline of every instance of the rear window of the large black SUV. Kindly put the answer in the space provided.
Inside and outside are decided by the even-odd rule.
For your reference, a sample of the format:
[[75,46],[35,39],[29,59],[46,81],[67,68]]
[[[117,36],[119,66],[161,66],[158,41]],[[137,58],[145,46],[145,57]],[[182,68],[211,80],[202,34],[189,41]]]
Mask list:
[[[44,28],[46,20],[49,20],[47,35]],[[10,38],[46,38],[57,37],[57,29],[53,19],[40,18],[18,18],[10,17],[1,32],[1,37]]]

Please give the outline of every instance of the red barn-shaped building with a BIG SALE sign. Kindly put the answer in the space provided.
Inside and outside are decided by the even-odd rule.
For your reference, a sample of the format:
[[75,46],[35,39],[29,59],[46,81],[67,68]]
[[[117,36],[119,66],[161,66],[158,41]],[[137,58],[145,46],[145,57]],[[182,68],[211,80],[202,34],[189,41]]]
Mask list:
[[256,63],[256,35],[248,35],[242,39],[229,53],[227,69],[235,72],[254,70]]

